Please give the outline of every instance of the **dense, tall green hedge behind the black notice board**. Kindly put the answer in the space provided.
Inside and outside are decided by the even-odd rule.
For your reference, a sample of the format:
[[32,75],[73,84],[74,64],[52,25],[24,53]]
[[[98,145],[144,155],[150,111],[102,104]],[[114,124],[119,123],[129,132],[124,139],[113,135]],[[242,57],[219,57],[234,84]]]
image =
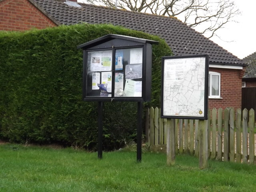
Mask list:
[[[159,106],[161,57],[171,50],[156,36],[107,24],[0,32],[0,138],[94,149],[98,103],[82,101],[82,50],[76,46],[106,34],[160,42],[153,45],[152,102],[146,103]],[[136,111],[136,103],[105,103],[106,149],[136,137]]]

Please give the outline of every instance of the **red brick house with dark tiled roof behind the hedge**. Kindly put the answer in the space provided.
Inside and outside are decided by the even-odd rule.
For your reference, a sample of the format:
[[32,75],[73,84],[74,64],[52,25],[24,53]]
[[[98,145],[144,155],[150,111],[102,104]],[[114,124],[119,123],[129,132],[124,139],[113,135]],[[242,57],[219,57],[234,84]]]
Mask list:
[[209,108],[241,108],[244,62],[176,18],[82,4],[76,0],[0,0],[0,21],[0,30],[86,22],[110,23],[160,36],[174,55],[209,54]]

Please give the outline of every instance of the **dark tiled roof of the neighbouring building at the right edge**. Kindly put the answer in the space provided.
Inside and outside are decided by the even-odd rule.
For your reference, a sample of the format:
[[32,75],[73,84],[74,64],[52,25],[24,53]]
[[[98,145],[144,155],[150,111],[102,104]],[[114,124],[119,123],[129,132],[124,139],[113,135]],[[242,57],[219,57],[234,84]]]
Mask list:
[[245,64],[248,64],[243,78],[256,78],[256,52],[243,58]]

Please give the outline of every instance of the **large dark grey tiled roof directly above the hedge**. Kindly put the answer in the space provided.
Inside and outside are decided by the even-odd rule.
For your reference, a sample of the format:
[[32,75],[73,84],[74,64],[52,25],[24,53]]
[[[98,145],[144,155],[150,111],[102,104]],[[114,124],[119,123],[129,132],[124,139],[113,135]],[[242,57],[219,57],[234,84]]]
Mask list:
[[80,7],[68,6],[63,0],[29,1],[58,25],[111,23],[164,38],[174,55],[209,54],[212,64],[244,64],[242,60],[176,18],[82,3],[78,3]]

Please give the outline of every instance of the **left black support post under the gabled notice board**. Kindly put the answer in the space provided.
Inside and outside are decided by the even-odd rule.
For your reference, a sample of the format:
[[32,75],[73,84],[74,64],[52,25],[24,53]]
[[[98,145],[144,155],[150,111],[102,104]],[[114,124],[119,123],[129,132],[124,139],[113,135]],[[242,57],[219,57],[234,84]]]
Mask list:
[[98,158],[102,159],[102,118],[103,118],[103,102],[98,105]]

